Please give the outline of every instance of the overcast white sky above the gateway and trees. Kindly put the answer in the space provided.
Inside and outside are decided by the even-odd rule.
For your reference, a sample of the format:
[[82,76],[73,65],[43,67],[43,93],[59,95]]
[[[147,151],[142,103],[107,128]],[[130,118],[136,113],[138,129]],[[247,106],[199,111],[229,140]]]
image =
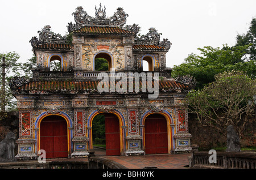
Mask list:
[[172,42],[167,67],[180,65],[188,54],[199,54],[197,48],[203,46],[234,45],[237,34],[246,33],[256,16],[255,0],[8,0],[0,2],[0,52],[15,51],[25,62],[32,57],[28,41],[44,25],[65,35],[68,23],[75,23],[72,13],[77,6],[95,16],[100,3],[106,6],[107,16],[122,7],[129,14],[126,24],[139,24],[142,35],[150,27],[163,33],[162,39]]

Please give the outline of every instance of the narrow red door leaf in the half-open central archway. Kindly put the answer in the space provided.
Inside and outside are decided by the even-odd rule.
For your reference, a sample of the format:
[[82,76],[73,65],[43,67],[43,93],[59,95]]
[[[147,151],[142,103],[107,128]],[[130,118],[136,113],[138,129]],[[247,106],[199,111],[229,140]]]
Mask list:
[[106,156],[120,155],[119,120],[114,114],[105,114]]

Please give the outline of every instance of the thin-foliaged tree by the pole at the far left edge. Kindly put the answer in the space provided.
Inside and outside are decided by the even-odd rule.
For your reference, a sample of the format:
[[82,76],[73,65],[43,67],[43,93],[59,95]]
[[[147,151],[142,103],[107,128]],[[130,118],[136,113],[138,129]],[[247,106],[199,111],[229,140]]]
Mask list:
[[2,84],[2,66],[0,68],[1,73],[1,105],[5,104],[6,110],[16,108],[16,99],[13,97],[11,89],[9,87],[9,80],[14,76],[20,76],[22,73],[22,63],[18,62],[20,56],[18,53],[0,53],[0,59],[2,64],[2,58],[5,57],[5,87]]

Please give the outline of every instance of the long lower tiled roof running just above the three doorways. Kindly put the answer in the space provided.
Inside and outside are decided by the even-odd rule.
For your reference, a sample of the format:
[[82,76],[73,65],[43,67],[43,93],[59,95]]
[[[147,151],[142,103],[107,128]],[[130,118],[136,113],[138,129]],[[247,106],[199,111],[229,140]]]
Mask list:
[[[29,91],[30,93],[38,92],[75,92],[75,91],[88,91],[88,92],[98,92],[97,85],[100,81],[84,80],[84,81],[64,81],[64,80],[48,80],[48,81],[31,81],[16,89],[16,92]],[[115,82],[117,83],[117,82]],[[134,84],[135,85],[135,84]],[[140,82],[140,92],[141,87],[145,84]],[[127,92],[129,83],[127,83]],[[110,87],[110,84],[109,84]],[[154,87],[154,81],[152,81],[152,87]],[[133,88],[135,89],[135,88]],[[166,91],[183,91],[189,89],[188,85],[176,82],[175,80],[159,80],[159,92]]]

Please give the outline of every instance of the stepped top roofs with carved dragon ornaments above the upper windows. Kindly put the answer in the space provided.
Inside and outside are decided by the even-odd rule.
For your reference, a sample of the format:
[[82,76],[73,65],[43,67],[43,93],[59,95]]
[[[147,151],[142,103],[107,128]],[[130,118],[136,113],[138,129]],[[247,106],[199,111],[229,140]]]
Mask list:
[[[134,37],[133,49],[136,51],[168,51],[171,42],[168,39],[160,41],[160,35],[155,28],[150,28],[147,35],[137,36],[139,25],[125,25],[126,18],[129,16],[123,8],[117,8],[117,11],[111,17],[106,17],[106,7],[95,7],[95,17],[89,16],[81,6],[73,12],[75,24],[68,23],[68,32],[73,36],[132,36]],[[46,25],[41,31],[38,31],[38,37],[32,37],[30,40],[34,49],[49,50],[73,50],[72,37],[61,36],[51,31],[51,26]],[[66,46],[65,46],[66,45]]]

